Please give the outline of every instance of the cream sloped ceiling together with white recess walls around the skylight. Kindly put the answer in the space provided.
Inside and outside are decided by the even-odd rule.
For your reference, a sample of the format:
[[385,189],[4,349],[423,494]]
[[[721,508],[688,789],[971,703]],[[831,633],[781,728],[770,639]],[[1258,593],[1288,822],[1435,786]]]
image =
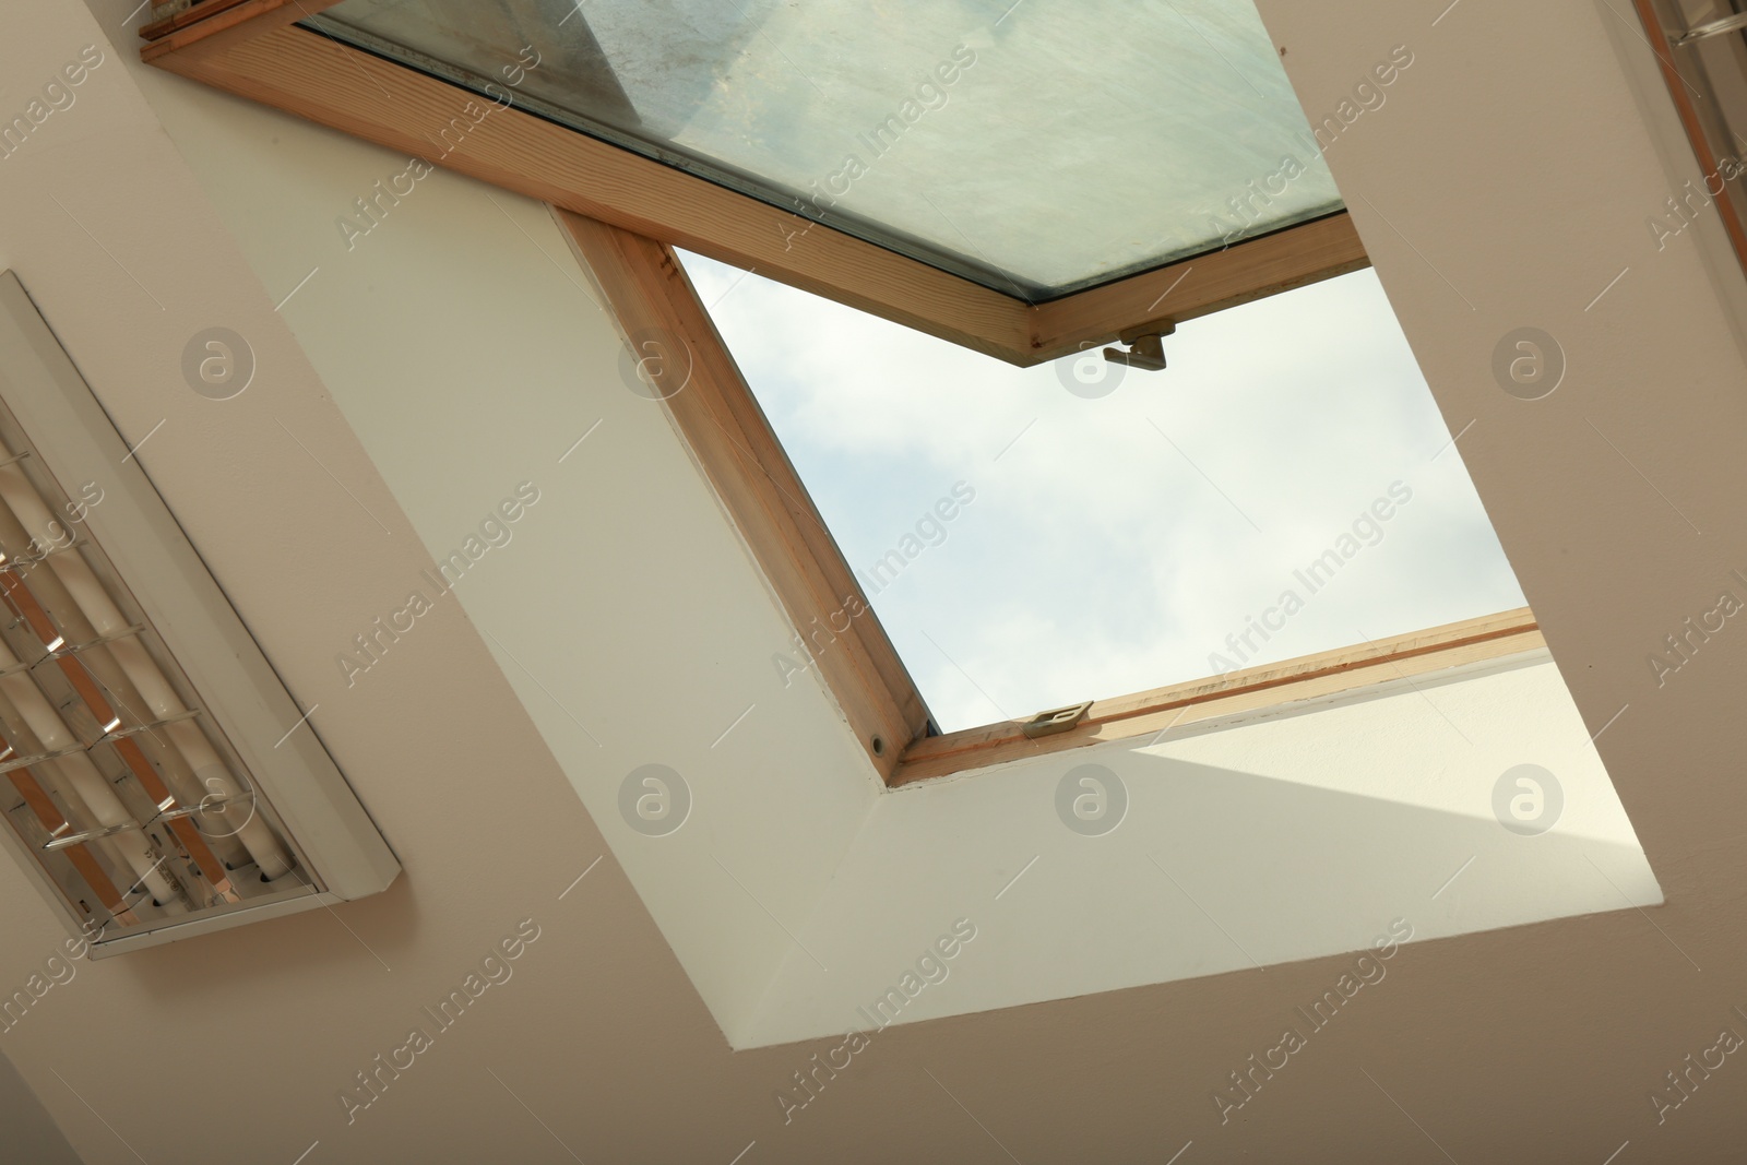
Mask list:
[[[93,9],[119,31],[124,5]],[[950,908],[945,894],[912,900],[912,913],[901,887],[858,896],[867,891],[856,886],[872,887],[893,866],[879,837],[917,845],[917,830],[942,821],[933,812],[915,819],[933,809],[929,798],[952,812],[980,786],[1020,789],[1024,776],[879,795],[867,774],[842,779],[853,749],[823,693],[797,685],[783,693],[781,716],[755,707],[720,744],[735,749],[720,782],[737,779],[741,788],[722,789],[735,796],[783,789],[791,800],[779,812],[793,817],[767,828],[818,880],[779,877],[758,844],[713,833],[720,826],[708,812],[669,838],[627,837],[608,791],[639,763],[699,774],[699,807],[704,793],[718,793],[716,770],[690,758],[711,753],[722,730],[760,704],[758,690],[741,683],[741,657],[767,669],[767,645],[783,636],[683,452],[671,437],[657,440],[652,414],[634,412],[645,402],[618,391],[606,369],[592,381],[580,372],[599,367],[606,328],[564,271],[542,211],[496,196],[500,213],[479,187],[435,175],[346,253],[334,218],[398,171],[393,157],[171,77],[136,70],[131,80],[110,68],[115,51],[79,105],[45,122],[33,154],[0,161],[0,259],[129,440],[164,421],[140,459],[293,695],[320,704],[311,723],[407,873],[390,893],[334,913],[91,964],[51,992],[0,1037],[0,1051],[84,1160],[135,1160],[135,1149],[145,1160],[293,1160],[311,1142],[320,1142],[311,1165],[571,1153],[727,1162],[748,1142],[756,1142],[748,1163],[858,1153],[1006,1160],[992,1141],[1019,1160],[1165,1160],[1191,1139],[1209,1160],[1441,1160],[1427,1137],[1455,1160],[1527,1160],[1516,1156],[1523,1146],[1536,1146],[1534,1160],[1602,1160],[1626,1139],[1637,1151],[1698,1160],[1728,1144],[1738,1106],[1728,1104],[1726,1085],[1698,1093],[1667,1127],[1654,1125],[1644,1093],[1682,1055],[1709,1046],[1728,1004],[1740,1003],[1728,968],[1744,954],[1742,901],[1730,887],[1740,884],[1747,805],[1730,779],[1742,674],[1731,658],[1747,646],[1717,636],[1663,688],[1644,657],[1686,615],[1710,610],[1726,571],[1747,562],[1726,503],[1742,473],[1735,449],[1747,433],[1738,393],[1747,369],[1719,295],[1740,276],[1702,253],[1714,239],[1700,232],[1658,253],[1642,231],[1642,217],[1679,187],[1668,169],[1679,152],[1654,143],[1654,133],[1668,133],[1668,112],[1653,86],[1628,79],[1642,45],[1605,5],[1548,0],[1525,12],[1462,0],[1438,24],[1438,12],[1380,0],[1314,14],[1270,2],[1263,14],[1289,47],[1284,59],[1310,110],[1333,108],[1391,45],[1413,45],[1415,66],[1389,105],[1366,114],[1329,161],[1452,431],[1474,423],[1462,452],[1588,728],[1569,718],[1509,723],[1544,728],[1579,753],[1583,737],[1609,725],[1597,748],[1667,906],[1410,947],[1391,968],[1399,987],[1377,992],[1368,1018],[1319,1037],[1314,1064],[1295,1067],[1289,1083],[1228,1127],[1209,1090],[1270,1046],[1282,1018],[1326,989],[1342,959],[908,1025],[784,1125],[772,1092],[828,1044],[730,1053],[716,1022],[723,1001],[776,982],[795,1011],[732,1004],[744,1024],[735,1043],[828,1027],[830,997],[807,996],[797,987],[804,971],[777,964],[788,938],[772,915],[868,920],[875,948],[919,948],[950,922],[933,906],[970,912]],[[23,108],[40,84],[19,79],[47,79],[103,35],[70,0],[19,14],[14,31],[0,45],[0,110]],[[1593,178],[1599,157],[1605,182]],[[542,243],[547,259],[536,253]],[[1623,267],[1625,278],[1585,311]],[[447,307],[433,323],[438,302]],[[189,391],[178,370],[187,337],[213,323],[248,337],[260,365],[259,383],[224,407]],[[1506,396],[1488,372],[1497,339],[1525,323],[1558,335],[1572,369],[1558,393],[1534,403]],[[564,339],[529,346],[529,337]],[[566,384],[568,398],[556,391]],[[535,389],[552,391],[540,400]],[[482,410],[487,395],[491,410]],[[559,465],[601,417],[601,430]],[[419,585],[428,547],[459,545],[519,480],[538,482],[542,503],[463,583],[466,610],[440,603],[348,688],[335,653]],[[566,547],[563,561],[557,547]],[[514,594],[540,594],[552,618],[582,627],[582,646],[538,634],[542,603],[507,611]],[[1474,692],[1481,704],[1522,704],[1525,688],[1511,685],[1544,692],[1537,676],[1546,667],[1441,688],[1434,699]],[[564,709],[547,697],[559,685]],[[1384,718],[1391,702],[1413,700],[1317,716]],[[1244,732],[1277,737],[1310,720]],[[1429,732],[1420,737],[1436,748]],[[1209,810],[1233,777],[1211,782],[1207,774],[1225,770],[1265,779],[1270,798],[1347,798],[1356,830],[1375,821],[1387,833],[1394,821],[1431,817],[1452,844],[1464,830],[1495,830],[1480,812],[1460,816],[1450,786],[1391,791],[1419,805],[1385,802],[1363,781],[1322,793],[1310,782],[1333,782],[1331,772],[1270,770],[1263,760],[1279,758],[1279,744],[1228,744],[1240,739],[1195,737],[1132,763],[1172,769],[1179,784],[1160,788],[1195,791]],[[1321,760],[1335,769],[1331,756]],[[1457,770],[1469,763],[1445,760]],[[1190,765],[1193,776],[1183,772]],[[1602,786],[1581,788],[1599,795]],[[868,802],[880,810],[863,826]],[[797,830],[818,817],[835,828]],[[1001,821],[968,821],[975,826],[917,845],[917,856],[970,854],[987,842],[971,830],[999,837]],[[1618,817],[1595,821],[1579,833],[1621,837]],[[1218,837],[1200,831],[1177,845],[1216,851]],[[1406,896],[1403,872],[1448,873],[1460,863],[1460,854],[1433,861],[1420,837],[1354,849],[1364,838],[1329,835],[1314,858],[1317,870],[1340,872],[1329,913],[1352,908],[1333,929],[1359,927],[1371,905],[1364,894],[1377,905]],[[704,845],[631,845],[694,838]],[[606,840],[611,856],[566,891],[608,854]],[[1494,833],[1488,852],[1506,854],[1515,840]],[[1146,849],[1122,851],[1123,859]],[[992,875],[1010,877],[1029,852],[1038,851],[982,873],[999,887],[1005,879]],[[765,872],[758,910],[709,854]],[[1370,875],[1375,866],[1363,858],[1373,854],[1401,865]],[[1219,859],[1202,852],[1190,868]],[[854,873],[858,863],[865,873]],[[1506,868],[1485,873],[1476,861],[1464,875],[1474,880],[1448,891],[1457,894],[1450,913],[1462,915],[1452,931],[1474,922],[1474,900],[1459,891],[1501,900],[1513,889]],[[823,879],[839,870],[854,877],[826,891]],[[692,887],[685,926],[664,903],[683,891],[648,889],[662,877]],[[1043,915],[1069,924],[1083,915],[1071,873],[1039,861],[1025,879],[1003,906],[1024,889],[1045,898]],[[1569,908],[1602,905],[1590,889],[1546,880]],[[1653,901],[1651,882],[1632,886]],[[23,875],[0,870],[0,973],[21,983],[59,933]],[[880,919],[875,903],[889,915]],[[1177,912],[1177,926],[1193,920],[1181,903],[1162,908]],[[348,1125],[337,1090],[398,1046],[421,1022],[418,1004],[444,994],[526,917],[542,938],[515,980],[480,999],[477,1022],[444,1034]],[[823,943],[832,929],[818,933]],[[1200,954],[1230,957],[1218,938],[1202,926]],[[1039,987],[1039,961],[1005,941],[992,931],[987,947],[971,947],[994,952],[991,964],[1003,968],[984,1006],[1062,994]],[[699,975],[692,947],[735,959],[716,973],[720,987]],[[1256,936],[1256,947],[1270,962],[1315,954],[1291,934]],[[867,982],[900,969],[861,968],[861,952],[849,954]],[[1143,952],[1127,968],[1104,966],[1104,950],[1088,954],[1115,987],[1146,982],[1141,962],[1184,948]],[[975,980],[971,969],[956,971],[954,989]],[[1228,966],[1200,968],[1218,969]],[[844,987],[844,997],[858,992],[861,980]],[[173,1074],[142,1078],[138,1058],[124,1053],[142,1046],[227,1069],[271,1065],[271,1085],[232,1085],[222,1104],[190,1109]],[[1378,1095],[1384,1086],[1399,1109]],[[1399,1120],[1401,1109],[1420,1128]],[[896,1127],[893,1111],[905,1114]]]

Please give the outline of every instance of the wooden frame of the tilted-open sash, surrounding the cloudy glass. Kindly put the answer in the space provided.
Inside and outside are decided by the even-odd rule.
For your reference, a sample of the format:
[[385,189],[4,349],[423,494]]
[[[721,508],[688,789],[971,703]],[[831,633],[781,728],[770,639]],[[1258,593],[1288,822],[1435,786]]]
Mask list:
[[[395,150],[428,155],[472,94],[295,21],[339,0],[197,0],[142,58]],[[1370,265],[1345,211],[1045,302],[898,255],[514,103],[428,159],[660,243],[1029,367]]]

